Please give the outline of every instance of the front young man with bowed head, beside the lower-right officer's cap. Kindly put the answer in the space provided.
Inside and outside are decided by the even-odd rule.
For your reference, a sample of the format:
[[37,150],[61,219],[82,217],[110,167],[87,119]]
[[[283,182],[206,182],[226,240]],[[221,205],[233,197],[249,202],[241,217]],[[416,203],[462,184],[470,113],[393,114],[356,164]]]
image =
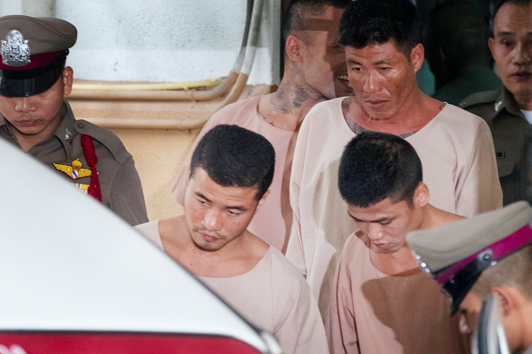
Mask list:
[[330,352],[460,353],[458,323],[438,284],[418,268],[406,234],[463,217],[429,204],[414,148],[392,134],[359,134],[340,160],[338,187],[359,230],[336,267]]

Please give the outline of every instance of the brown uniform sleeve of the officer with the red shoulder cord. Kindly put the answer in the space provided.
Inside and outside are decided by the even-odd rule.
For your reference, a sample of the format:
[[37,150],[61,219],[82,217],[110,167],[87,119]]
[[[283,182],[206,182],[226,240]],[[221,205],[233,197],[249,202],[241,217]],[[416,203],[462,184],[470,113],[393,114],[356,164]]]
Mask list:
[[148,222],[142,185],[132,157],[115,175],[109,208],[132,226]]

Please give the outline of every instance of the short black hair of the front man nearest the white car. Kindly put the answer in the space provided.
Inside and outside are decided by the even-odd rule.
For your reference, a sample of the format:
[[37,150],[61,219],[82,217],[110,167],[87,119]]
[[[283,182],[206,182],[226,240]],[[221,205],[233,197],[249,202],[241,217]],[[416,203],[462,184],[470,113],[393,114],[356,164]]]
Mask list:
[[260,200],[270,187],[275,150],[262,135],[237,125],[221,124],[209,130],[196,146],[190,176],[196,167],[223,187],[256,187]]

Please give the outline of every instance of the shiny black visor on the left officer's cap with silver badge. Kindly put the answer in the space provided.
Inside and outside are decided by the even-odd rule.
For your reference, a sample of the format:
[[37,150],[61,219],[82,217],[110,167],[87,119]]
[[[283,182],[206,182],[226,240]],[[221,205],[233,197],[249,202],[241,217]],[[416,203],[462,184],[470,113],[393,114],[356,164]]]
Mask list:
[[0,70],[0,95],[27,97],[41,94],[54,86],[63,73],[66,55],[39,68],[27,70]]

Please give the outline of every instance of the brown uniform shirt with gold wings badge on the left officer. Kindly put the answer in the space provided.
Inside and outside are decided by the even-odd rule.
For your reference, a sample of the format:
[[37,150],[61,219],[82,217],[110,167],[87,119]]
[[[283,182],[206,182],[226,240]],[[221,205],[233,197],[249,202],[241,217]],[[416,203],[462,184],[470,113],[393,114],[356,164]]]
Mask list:
[[[81,134],[87,134],[93,138],[98,158],[96,170],[99,172],[102,204],[131,225],[147,222],[140,178],[131,154],[128,153],[120,139],[107,129],[84,120],[74,119],[72,109],[66,100],[62,115],[63,120],[54,134],[32,147],[28,153],[52,168],[65,180],[74,183],[77,188],[86,188],[90,184],[90,176],[74,180],[64,172],[56,170],[54,163],[71,166],[72,161],[79,159],[83,164],[82,168],[89,168],[81,148]],[[0,115],[0,137],[20,148],[11,129],[5,118]],[[38,183],[38,176],[36,176],[36,183]],[[41,187],[46,188],[46,186]],[[57,197],[61,198],[61,196]],[[65,203],[68,201],[65,200]],[[82,208],[79,212],[83,212]]]

